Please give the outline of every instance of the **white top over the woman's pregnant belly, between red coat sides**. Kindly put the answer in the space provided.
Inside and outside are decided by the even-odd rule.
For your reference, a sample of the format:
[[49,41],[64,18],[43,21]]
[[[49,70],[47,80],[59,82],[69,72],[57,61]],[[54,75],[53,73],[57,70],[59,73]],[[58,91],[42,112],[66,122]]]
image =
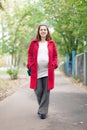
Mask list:
[[48,42],[40,42],[38,49],[38,78],[48,76]]

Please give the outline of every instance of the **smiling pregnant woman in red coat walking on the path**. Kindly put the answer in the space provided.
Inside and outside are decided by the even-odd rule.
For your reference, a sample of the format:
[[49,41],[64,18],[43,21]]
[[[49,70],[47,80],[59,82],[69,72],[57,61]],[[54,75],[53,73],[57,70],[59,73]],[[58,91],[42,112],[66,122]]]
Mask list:
[[30,88],[35,90],[38,115],[45,119],[50,90],[54,88],[54,69],[58,67],[57,50],[46,25],[40,25],[35,40],[28,49],[27,68],[31,70]]

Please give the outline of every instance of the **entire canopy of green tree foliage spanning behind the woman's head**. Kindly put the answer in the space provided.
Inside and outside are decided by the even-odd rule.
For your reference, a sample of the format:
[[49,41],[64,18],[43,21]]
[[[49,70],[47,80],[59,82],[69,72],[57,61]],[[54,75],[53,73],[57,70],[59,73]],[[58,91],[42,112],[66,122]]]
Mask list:
[[44,22],[54,28],[53,39],[61,55],[87,50],[87,0],[38,0],[32,4],[27,0],[22,6],[15,1],[12,13],[7,3],[0,2],[0,53],[9,53],[16,62],[12,65],[26,61],[29,43]]

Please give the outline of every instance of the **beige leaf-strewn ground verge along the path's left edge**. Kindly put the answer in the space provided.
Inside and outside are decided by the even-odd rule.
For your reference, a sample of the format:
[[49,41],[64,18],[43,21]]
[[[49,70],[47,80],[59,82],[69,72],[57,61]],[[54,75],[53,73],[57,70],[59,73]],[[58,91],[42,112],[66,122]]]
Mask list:
[[19,87],[28,83],[27,79],[0,79],[0,101],[14,93]]

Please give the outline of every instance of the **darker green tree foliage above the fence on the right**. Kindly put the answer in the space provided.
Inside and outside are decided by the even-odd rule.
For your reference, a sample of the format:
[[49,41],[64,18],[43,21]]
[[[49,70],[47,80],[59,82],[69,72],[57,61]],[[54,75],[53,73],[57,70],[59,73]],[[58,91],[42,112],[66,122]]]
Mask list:
[[[87,48],[87,1],[43,0],[45,14],[54,26],[55,40],[61,55]],[[85,41],[85,44],[84,44]]]

